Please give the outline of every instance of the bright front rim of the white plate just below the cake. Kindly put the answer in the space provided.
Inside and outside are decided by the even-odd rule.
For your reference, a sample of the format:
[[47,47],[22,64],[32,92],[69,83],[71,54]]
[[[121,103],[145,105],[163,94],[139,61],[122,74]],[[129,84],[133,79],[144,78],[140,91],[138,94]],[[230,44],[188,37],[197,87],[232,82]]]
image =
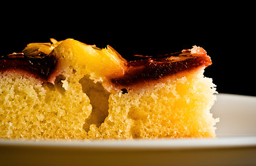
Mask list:
[[158,140],[0,140],[1,146],[72,149],[219,149],[256,147],[256,136]]

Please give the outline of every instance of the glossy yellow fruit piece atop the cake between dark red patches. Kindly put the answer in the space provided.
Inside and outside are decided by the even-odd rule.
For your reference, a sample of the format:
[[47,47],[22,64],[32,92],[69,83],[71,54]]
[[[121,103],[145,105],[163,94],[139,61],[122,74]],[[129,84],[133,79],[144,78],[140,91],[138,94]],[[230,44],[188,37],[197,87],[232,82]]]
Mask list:
[[[95,45],[87,45],[75,39],[66,39],[57,42],[51,39],[51,43],[32,43],[23,50],[28,56],[44,53],[46,55],[56,54],[57,57],[65,59],[64,64],[84,66],[86,70],[94,74],[97,80],[102,77],[116,77],[125,71],[125,59],[123,59],[111,46],[97,48]],[[65,66],[65,65],[64,65]],[[86,74],[86,73],[84,73]]]

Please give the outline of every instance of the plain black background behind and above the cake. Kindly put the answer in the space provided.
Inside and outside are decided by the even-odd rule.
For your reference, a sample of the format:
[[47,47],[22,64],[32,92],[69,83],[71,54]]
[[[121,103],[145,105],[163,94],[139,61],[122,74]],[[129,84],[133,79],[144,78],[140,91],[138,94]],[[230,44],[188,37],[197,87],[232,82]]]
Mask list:
[[213,78],[219,93],[256,95],[255,17],[250,4],[159,4],[12,6],[1,12],[1,55],[51,37],[100,48],[110,45],[127,59],[196,45],[212,58],[205,76]]

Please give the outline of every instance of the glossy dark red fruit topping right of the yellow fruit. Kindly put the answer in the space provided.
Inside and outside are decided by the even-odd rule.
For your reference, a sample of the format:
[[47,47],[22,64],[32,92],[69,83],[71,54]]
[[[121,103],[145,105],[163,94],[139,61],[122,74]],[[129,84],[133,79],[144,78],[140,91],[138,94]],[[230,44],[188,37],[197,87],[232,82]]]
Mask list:
[[125,74],[121,77],[111,78],[111,82],[121,87],[131,86],[132,84],[158,80],[161,77],[175,75],[182,71],[190,71],[201,66],[207,67],[210,64],[212,62],[206,52],[192,54],[191,50],[183,50],[179,53],[127,62]]

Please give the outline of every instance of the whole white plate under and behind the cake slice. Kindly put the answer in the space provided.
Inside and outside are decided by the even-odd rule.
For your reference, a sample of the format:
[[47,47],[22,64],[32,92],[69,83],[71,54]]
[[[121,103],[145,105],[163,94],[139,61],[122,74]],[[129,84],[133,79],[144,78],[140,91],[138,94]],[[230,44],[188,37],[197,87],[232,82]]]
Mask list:
[[256,97],[217,95],[217,139],[0,140],[0,165],[256,165]]

